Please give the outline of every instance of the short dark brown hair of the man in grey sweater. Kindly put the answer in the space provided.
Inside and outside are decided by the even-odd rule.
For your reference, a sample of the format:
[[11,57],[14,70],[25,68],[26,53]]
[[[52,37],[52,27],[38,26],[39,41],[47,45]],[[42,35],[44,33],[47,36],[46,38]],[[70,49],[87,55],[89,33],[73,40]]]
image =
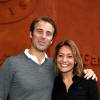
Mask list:
[[48,22],[52,25],[52,27],[54,28],[54,33],[53,33],[53,37],[55,36],[56,34],[56,24],[55,22],[49,17],[49,16],[40,16],[40,17],[36,17],[31,25],[30,25],[30,32],[33,32],[34,31],[34,28],[35,28],[35,25],[40,22],[40,21],[45,21],[45,22]]

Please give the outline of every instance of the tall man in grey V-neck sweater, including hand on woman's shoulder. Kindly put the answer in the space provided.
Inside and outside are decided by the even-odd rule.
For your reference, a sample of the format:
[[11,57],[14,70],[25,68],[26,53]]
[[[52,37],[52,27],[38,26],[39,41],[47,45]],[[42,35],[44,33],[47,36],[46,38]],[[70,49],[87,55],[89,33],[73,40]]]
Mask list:
[[[49,17],[38,17],[30,26],[31,47],[8,58],[0,70],[0,100],[51,100],[53,61],[45,50],[52,44],[56,26]],[[88,73],[87,73],[88,72]],[[96,78],[92,70],[85,77]]]

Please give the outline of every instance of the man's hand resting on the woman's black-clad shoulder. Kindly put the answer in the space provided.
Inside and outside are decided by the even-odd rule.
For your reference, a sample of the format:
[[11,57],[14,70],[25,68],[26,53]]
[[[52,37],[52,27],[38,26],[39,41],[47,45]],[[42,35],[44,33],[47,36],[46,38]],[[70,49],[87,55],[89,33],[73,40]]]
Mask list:
[[83,73],[85,74],[84,78],[86,78],[87,80],[92,78],[92,80],[95,79],[97,81],[97,76],[92,69],[84,69]]

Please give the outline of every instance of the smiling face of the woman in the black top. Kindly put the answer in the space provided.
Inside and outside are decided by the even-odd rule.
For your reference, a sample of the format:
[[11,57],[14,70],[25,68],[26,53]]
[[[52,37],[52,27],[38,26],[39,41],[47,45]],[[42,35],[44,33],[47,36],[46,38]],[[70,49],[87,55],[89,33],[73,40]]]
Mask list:
[[69,46],[62,46],[57,56],[57,67],[61,73],[72,72],[75,60]]

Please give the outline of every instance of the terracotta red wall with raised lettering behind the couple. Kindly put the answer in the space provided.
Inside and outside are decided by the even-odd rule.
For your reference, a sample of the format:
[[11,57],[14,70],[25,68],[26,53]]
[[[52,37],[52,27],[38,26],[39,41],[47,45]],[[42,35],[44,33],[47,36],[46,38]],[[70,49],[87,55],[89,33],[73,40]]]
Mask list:
[[45,15],[58,28],[48,54],[53,57],[57,42],[74,40],[84,66],[95,71],[100,87],[100,0],[0,0],[0,64],[29,47],[29,25]]

